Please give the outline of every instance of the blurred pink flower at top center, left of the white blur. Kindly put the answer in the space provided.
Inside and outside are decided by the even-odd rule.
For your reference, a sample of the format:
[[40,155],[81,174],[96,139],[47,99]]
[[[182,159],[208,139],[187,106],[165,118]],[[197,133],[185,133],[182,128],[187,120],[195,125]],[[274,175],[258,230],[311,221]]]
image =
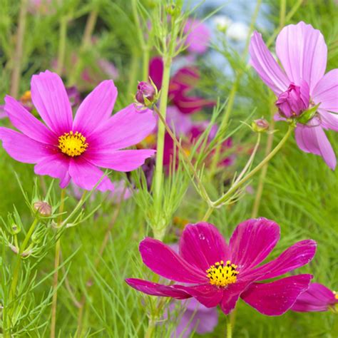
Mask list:
[[197,19],[188,19],[183,32],[187,34],[185,46],[188,52],[203,54],[208,50],[210,30],[206,24]]

